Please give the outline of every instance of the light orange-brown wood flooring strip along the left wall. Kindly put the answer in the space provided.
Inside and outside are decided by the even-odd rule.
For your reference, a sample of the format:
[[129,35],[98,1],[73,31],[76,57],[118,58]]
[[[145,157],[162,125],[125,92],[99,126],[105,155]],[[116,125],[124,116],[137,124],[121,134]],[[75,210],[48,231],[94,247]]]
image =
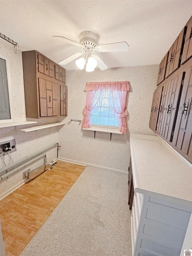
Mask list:
[[58,161],[0,201],[5,255],[18,256],[55,209],[85,166]]

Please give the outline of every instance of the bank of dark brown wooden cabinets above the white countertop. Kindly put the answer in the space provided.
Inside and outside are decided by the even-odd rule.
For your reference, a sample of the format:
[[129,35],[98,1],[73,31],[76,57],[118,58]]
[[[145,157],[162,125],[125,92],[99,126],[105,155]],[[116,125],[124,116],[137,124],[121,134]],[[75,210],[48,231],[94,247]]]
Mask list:
[[[160,64],[149,127],[192,163],[191,40],[192,17],[169,50],[165,80],[162,82],[161,67],[164,60]],[[157,95],[160,89],[162,97],[158,111],[160,97]]]

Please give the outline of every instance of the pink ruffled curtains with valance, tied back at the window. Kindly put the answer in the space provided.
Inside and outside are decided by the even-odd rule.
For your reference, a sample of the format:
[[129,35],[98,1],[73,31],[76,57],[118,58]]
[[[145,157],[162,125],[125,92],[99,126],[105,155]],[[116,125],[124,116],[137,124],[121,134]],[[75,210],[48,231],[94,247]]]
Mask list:
[[[89,82],[86,83],[86,105],[83,109],[83,120],[81,128],[90,128],[90,113],[94,111],[98,100],[101,100],[101,93],[95,99],[94,97],[97,91],[102,93],[103,90],[109,92],[109,105],[110,109],[115,117],[119,119],[119,131],[123,134],[127,133],[127,125],[125,122],[125,117],[128,115],[126,108],[126,97],[127,92],[129,91],[129,82],[128,81],[117,81],[117,82]],[[95,103],[96,102],[96,103]],[[94,104],[95,103],[95,104]]]

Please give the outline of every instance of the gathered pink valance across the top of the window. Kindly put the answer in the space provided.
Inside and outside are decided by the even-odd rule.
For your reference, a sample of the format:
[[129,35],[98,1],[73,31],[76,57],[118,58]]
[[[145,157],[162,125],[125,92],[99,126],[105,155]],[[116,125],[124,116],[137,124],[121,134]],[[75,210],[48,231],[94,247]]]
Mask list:
[[85,85],[84,92],[87,91],[129,91],[128,81],[116,81],[116,82],[88,82]]

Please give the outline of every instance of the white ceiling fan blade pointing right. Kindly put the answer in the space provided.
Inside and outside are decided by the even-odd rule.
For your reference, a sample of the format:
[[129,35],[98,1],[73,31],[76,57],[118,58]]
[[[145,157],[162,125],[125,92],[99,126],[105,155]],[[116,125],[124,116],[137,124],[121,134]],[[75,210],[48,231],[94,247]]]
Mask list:
[[101,44],[95,47],[98,52],[127,52],[129,45],[126,42]]

